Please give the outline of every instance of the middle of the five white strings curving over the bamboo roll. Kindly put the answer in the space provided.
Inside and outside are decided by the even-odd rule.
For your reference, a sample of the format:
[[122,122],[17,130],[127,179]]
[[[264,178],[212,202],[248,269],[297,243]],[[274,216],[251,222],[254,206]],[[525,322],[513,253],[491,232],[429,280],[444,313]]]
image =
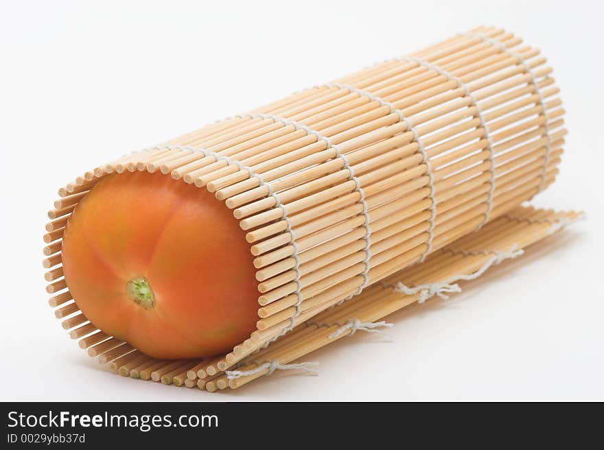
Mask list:
[[[426,174],[428,174],[428,185],[430,187],[430,200],[432,201],[432,204],[430,205],[430,212],[432,213],[430,216],[430,220],[429,220],[429,224],[430,227],[428,228],[428,246],[426,247],[426,251],[423,252],[423,254],[421,254],[421,258],[420,261],[424,261],[426,259],[426,257],[428,256],[428,254],[430,254],[430,252],[432,252],[432,241],[434,241],[434,226],[436,225],[436,218],[437,218],[437,198],[436,198],[436,188],[434,187],[434,173],[432,172],[432,163],[430,163],[430,160],[428,159],[428,154],[426,153],[426,148],[423,146],[423,141],[421,141],[420,137],[419,137],[419,132],[417,132],[417,129],[415,128],[415,126],[413,126],[413,123],[410,122],[410,120],[405,117],[404,112],[402,110],[399,110],[396,108],[396,106],[394,106],[394,104],[392,102],[388,102],[387,100],[382,99],[381,97],[378,97],[377,95],[375,95],[374,93],[371,93],[369,91],[364,91],[363,89],[359,89],[356,88],[354,86],[350,86],[349,84],[341,84],[341,83],[329,83],[329,84],[321,84],[318,86],[315,86],[315,88],[321,88],[321,87],[327,87],[327,88],[338,88],[338,89],[347,89],[350,92],[353,93],[357,93],[360,96],[364,96],[364,97],[368,97],[372,102],[377,102],[380,104],[380,106],[388,106],[388,108],[390,108],[390,112],[391,114],[397,114],[399,116],[399,121],[406,123],[407,129],[410,132],[413,132],[413,140],[415,142],[417,142],[417,145],[419,146],[419,153],[422,156],[423,159],[423,163],[426,165]],[[344,300],[342,300],[343,302]],[[342,302],[338,303],[341,304]]]

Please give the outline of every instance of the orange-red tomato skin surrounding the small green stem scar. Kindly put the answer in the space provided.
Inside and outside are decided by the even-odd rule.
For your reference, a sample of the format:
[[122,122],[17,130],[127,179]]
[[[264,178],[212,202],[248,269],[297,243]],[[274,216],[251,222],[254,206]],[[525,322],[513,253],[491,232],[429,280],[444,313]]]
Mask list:
[[[96,327],[162,359],[230,351],[255,330],[250,246],[206,189],[163,174],[111,174],[76,206],[63,235],[63,272]],[[154,307],[126,286],[144,277]]]

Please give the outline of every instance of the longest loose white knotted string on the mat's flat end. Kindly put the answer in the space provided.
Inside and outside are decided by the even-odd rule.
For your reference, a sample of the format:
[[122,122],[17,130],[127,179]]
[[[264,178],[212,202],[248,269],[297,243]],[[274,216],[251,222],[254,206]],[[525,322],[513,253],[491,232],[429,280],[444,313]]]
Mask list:
[[461,292],[461,287],[456,284],[456,281],[471,281],[477,279],[480,275],[484,274],[491,265],[497,265],[506,259],[513,259],[519,257],[521,254],[524,254],[524,250],[516,250],[516,246],[512,246],[512,248],[507,252],[502,252],[498,250],[494,250],[491,252],[480,252],[480,254],[493,254],[491,257],[480,269],[472,274],[460,274],[454,275],[450,278],[442,281],[440,283],[426,283],[422,285],[416,285],[413,287],[409,287],[404,285],[401,281],[393,284],[382,283],[383,287],[393,287],[393,292],[400,292],[401,294],[406,295],[415,295],[419,294],[417,298],[418,303],[424,303],[428,298],[432,298],[437,295],[440,298],[447,299],[449,298],[446,294],[452,292]]

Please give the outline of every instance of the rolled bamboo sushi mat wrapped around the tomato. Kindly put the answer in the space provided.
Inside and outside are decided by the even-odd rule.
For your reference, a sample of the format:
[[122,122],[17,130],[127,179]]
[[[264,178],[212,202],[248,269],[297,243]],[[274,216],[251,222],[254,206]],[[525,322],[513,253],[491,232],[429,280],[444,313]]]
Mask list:
[[[364,301],[377,308],[380,298],[398,305],[451,291],[434,287],[445,258],[468,275],[493,257],[457,254],[452,243],[474,252],[489,230],[499,230],[489,239],[529,225],[546,234],[559,217],[574,217],[518,209],[558,171],[566,130],[551,72],[517,36],[478,27],[87,171],[49,211],[50,304],[89,355],[123,375],[213,390],[304,355],[333,328],[318,324],[337,325]],[[94,327],[71,298],[60,253],[71,211],[106,174],[137,170],[207,189],[247,232],[259,320],[226,355],[150,359]],[[518,224],[511,211],[522,213]],[[400,292],[388,292],[394,279]],[[432,285],[419,289],[424,282]],[[260,357],[273,363],[257,370]]]

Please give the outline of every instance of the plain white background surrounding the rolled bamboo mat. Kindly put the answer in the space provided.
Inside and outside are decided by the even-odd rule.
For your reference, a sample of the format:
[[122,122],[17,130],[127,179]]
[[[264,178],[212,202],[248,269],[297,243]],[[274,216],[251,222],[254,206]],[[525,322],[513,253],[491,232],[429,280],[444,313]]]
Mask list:
[[[595,1],[13,1],[0,7],[1,400],[604,400],[604,36]],[[109,372],[47,306],[41,249],[56,189],[139,150],[476,25],[548,56],[570,135],[535,202],[589,220],[446,303],[390,318],[275,373],[209,394]]]

